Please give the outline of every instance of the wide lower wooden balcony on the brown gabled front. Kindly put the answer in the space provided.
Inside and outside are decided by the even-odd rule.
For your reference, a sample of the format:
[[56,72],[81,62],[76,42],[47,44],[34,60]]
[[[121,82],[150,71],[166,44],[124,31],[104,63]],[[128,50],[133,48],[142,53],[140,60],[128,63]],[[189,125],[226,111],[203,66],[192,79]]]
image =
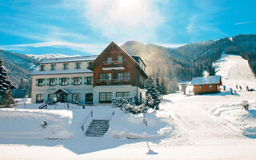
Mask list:
[[95,86],[118,86],[118,85],[132,85],[130,78],[125,79],[96,79]]

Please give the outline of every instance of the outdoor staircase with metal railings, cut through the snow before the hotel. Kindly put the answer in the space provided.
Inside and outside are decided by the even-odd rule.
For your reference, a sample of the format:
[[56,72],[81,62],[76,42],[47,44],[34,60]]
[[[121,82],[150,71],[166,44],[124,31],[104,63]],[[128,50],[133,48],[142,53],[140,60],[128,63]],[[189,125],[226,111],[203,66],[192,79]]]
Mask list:
[[94,119],[86,130],[86,136],[102,137],[109,129],[109,120]]

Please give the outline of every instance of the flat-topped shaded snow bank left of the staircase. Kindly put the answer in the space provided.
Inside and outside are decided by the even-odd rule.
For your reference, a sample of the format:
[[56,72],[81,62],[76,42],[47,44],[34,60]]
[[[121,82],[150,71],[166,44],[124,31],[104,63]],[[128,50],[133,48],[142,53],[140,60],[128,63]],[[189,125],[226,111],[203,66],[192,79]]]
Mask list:
[[[0,138],[71,138],[68,110],[0,110]],[[42,121],[47,122],[42,128]]]

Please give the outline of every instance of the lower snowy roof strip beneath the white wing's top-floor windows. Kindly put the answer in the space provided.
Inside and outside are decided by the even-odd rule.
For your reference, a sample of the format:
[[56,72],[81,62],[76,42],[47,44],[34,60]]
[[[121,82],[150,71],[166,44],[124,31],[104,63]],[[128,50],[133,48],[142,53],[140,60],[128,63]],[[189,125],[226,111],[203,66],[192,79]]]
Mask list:
[[93,73],[93,71],[88,69],[80,70],[46,70],[40,71],[38,67],[34,69],[30,75],[46,75],[46,74],[82,74],[82,73]]

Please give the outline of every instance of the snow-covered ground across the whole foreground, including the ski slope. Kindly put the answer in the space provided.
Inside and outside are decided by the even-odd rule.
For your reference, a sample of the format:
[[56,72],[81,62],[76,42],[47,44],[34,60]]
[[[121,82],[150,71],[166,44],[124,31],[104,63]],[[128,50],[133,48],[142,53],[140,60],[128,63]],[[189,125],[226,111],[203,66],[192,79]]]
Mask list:
[[[21,102],[17,109],[2,109],[0,158],[255,159],[256,92],[245,90],[247,85],[256,88],[254,76],[239,56],[223,55],[215,66],[226,86],[242,86],[238,95],[228,91],[166,95],[156,114],[146,114],[148,126],[143,124],[142,114],[125,114],[110,106],[82,109],[58,104],[57,110],[55,106],[38,110],[38,104],[26,104],[29,109],[25,110]],[[244,100],[250,103],[249,111],[242,110]],[[90,122],[91,110],[94,118],[110,119],[110,129],[102,138],[86,137],[81,130],[87,115]],[[49,122],[48,129],[40,126],[42,119]]]

